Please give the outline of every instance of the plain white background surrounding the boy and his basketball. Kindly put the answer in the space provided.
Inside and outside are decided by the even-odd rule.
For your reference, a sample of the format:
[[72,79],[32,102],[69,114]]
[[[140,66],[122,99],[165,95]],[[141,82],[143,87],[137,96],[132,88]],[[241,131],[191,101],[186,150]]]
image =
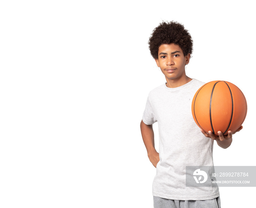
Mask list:
[[[153,208],[139,124],[165,77],[148,50],[162,20],[194,41],[187,75],[236,84],[244,129],[216,166],[255,166],[255,7],[244,1],[1,1],[0,207]],[[157,124],[154,124],[158,150]],[[222,208],[255,187],[220,187]]]

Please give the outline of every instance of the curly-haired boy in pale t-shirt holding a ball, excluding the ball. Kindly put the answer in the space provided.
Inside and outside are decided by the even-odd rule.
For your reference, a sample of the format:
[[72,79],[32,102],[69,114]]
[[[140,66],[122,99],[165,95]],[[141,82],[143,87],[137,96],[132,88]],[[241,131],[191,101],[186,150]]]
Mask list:
[[[157,168],[153,181],[154,208],[220,208],[218,186],[186,187],[186,166],[213,166],[214,140],[222,148],[232,133],[215,137],[204,133],[193,120],[191,103],[204,84],[185,73],[193,41],[177,22],[162,22],[148,41],[151,55],[166,83],[150,91],[140,129],[150,162]],[[158,122],[159,153],[154,146],[153,124]],[[240,131],[242,126],[237,130]],[[208,137],[208,138],[207,138]]]

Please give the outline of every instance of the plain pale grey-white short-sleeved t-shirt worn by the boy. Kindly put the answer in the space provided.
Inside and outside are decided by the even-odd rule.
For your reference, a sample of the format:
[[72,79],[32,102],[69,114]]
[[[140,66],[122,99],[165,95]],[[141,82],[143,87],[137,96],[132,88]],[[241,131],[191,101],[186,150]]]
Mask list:
[[193,120],[192,99],[203,85],[196,79],[180,87],[166,84],[150,91],[143,122],[158,122],[159,158],[153,196],[173,200],[209,200],[219,196],[218,186],[186,187],[186,166],[213,166],[214,140],[205,137]]

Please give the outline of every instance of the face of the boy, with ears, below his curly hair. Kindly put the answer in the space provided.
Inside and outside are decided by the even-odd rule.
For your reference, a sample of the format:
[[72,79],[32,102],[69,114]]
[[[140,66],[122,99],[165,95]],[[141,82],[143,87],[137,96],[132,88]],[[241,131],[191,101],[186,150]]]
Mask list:
[[185,65],[189,63],[189,57],[190,54],[184,56],[180,46],[163,44],[159,46],[158,59],[155,59],[155,61],[168,83],[186,79]]

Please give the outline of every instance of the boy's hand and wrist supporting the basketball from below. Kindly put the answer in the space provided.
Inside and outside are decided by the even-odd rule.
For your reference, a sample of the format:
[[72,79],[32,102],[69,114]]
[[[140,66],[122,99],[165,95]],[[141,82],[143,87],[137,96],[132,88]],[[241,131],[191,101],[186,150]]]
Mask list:
[[[234,133],[236,132],[239,132],[241,129],[243,128],[243,126],[240,126],[237,131],[235,131]],[[203,130],[201,130],[201,132],[204,134],[204,136],[208,137],[208,138],[211,138],[213,140],[216,140],[217,141],[217,144],[222,147],[223,149],[226,149],[228,148],[231,143],[232,143],[232,133],[231,131],[228,131],[227,132],[227,135],[226,136],[223,136],[222,135],[222,132],[221,131],[218,131],[218,135],[219,136],[215,136],[211,131],[209,131],[207,134],[206,132],[204,132]]]

